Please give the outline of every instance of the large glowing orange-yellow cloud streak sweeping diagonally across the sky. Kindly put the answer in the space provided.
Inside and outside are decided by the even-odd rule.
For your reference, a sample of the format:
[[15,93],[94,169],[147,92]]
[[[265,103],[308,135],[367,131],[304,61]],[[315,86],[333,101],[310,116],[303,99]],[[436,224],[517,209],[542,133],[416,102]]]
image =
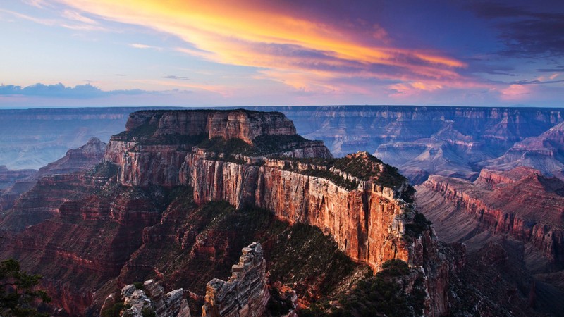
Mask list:
[[[321,87],[335,77],[450,82],[461,80],[457,68],[466,66],[434,52],[355,42],[338,25],[274,10],[266,1],[57,1],[107,20],[176,35],[195,47],[177,50],[217,63],[266,68],[293,87],[305,87],[296,78],[306,77],[316,77]],[[388,43],[388,32],[379,25],[374,37]]]

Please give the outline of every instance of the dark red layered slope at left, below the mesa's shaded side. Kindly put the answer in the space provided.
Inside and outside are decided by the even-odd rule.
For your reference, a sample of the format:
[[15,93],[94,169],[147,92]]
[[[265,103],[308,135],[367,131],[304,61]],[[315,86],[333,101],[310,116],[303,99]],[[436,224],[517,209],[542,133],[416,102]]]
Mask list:
[[[142,228],[157,223],[162,193],[108,186],[96,175],[42,178],[2,221],[0,256],[42,275],[54,304],[79,316],[92,289],[119,274],[142,243]],[[160,198],[159,198],[160,197]]]

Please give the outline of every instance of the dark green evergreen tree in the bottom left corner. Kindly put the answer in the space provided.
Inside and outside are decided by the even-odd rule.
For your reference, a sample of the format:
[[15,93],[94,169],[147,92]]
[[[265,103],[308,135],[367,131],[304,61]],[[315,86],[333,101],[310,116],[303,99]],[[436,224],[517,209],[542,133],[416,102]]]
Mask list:
[[37,285],[41,275],[20,271],[20,263],[14,259],[0,262],[0,316],[49,316],[36,309],[39,302],[51,302],[47,293]]

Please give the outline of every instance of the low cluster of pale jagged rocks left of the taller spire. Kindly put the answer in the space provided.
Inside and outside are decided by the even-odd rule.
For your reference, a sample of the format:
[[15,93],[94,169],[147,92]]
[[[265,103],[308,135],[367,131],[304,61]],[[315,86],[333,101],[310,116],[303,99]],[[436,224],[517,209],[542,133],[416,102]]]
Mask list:
[[[156,317],[190,317],[190,308],[183,299],[183,292],[180,288],[164,294],[163,287],[154,280],[145,281],[142,290],[133,284],[125,285],[121,289],[121,300],[130,308],[125,309],[121,316],[143,317],[154,313]],[[106,302],[114,302],[114,295],[110,295]],[[108,307],[109,304],[104,306]],[[102,311],[106,307],[102,307]]]

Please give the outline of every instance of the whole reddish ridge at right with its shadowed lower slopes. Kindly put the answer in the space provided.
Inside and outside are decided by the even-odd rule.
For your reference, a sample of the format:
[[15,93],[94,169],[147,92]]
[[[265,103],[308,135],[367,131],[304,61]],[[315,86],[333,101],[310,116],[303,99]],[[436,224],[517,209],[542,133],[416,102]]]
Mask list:
[[464,243],[471,259],[491,263],[489,269],[530,306],[558,316],[563,307],[553,298],[564,294],[557,278],[564,268],[562,180],[519,166],[483,169],[474,182],[431,175],[416,188],[419,210],[439,239]]

